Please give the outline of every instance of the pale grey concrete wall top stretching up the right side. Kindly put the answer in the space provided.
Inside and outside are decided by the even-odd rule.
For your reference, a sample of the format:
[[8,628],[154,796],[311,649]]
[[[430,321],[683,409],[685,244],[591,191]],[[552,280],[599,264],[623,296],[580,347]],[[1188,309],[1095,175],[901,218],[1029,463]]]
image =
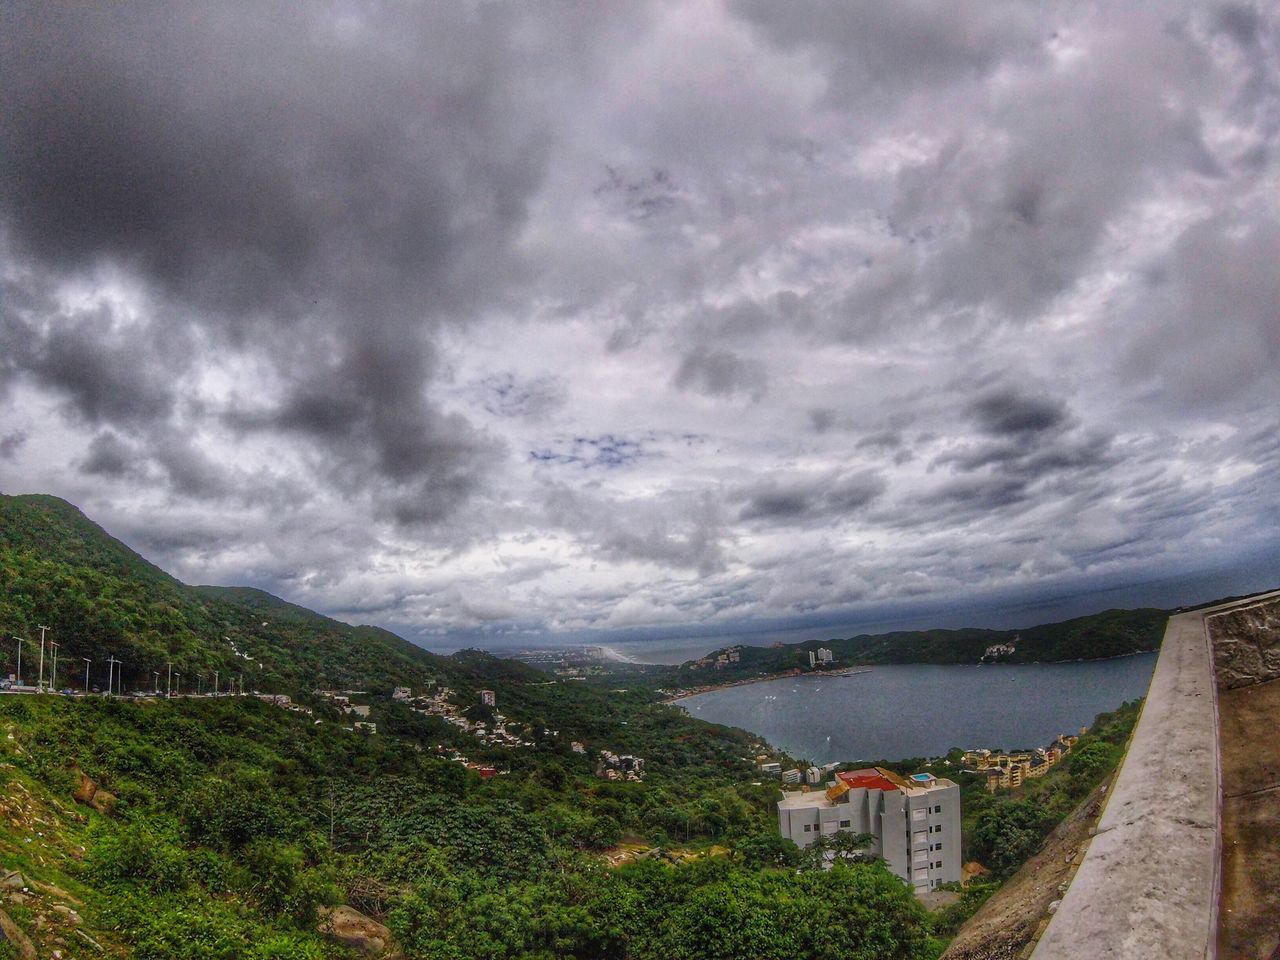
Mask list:
[[1033,960],[1216,956],[1221,764],[1204,618],[1258,599],[1170,617],[1097,835]]

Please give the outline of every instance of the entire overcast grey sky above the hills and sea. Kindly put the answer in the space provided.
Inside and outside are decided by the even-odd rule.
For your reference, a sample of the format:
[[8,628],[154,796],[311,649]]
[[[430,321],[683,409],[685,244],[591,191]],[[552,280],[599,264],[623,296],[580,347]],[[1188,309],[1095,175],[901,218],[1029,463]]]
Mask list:
[[4,4],[0,488],[431,644],[1280,543],[1280,15]]

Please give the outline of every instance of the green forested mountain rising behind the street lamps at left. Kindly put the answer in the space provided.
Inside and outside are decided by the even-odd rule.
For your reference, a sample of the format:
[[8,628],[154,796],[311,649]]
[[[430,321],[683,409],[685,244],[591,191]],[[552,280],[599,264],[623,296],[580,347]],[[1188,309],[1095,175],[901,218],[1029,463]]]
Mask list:
[[[150,686],[168,664],[184,686],[243,678],[246,689],[296,692],[315,686],[483,686],[494,676],[538,671],[486,654],[440,657],[371,626],[353,627],[251,588],[188,586],[169,576],[70,503],[0,495],[0,631],[33,641],[38,625],[60,646],[63,677],[106,686],[106,659],[124,662],[127,689]],[[15,659],[4,645],[4,662]],[[35,667],[33,644],[24,649]],[[502,664],[500,667],[498,664]],[[46,663],[46,669],[49,664]],[[163,681],[163,682],[166,682]]]

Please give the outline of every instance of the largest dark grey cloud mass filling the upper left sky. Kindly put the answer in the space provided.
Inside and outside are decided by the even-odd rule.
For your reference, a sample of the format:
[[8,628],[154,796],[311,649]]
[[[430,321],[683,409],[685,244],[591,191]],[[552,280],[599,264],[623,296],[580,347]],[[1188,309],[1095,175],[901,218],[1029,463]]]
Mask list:
[[[481,262],[516,268],[544,150],[490,44],[518,18],[143,4],[13,8],[6,27],[0,193],[15,247],[65,275],[128,270],[211,343],[270,351],[279,402],[228,420],[358,457],[394,516],[465,499],[485,443],[426,398],[426,332],[497,289],[476,283]],[[182,323],[109,328],[56,325],[32,372],[92,422],[169,421],[163,384],[182,369],[156,339]],[[200,485],[189,457],[157,453]]]

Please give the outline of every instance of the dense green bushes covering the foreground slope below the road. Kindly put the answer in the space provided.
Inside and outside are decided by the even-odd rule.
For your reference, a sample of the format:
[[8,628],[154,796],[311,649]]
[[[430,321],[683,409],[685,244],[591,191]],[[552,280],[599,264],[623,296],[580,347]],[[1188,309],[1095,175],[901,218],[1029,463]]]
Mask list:
[[77,891],[99,936],[136,957],[339,956],[315,933],[316,908],[335,902],[385,920],[412,957],[937,950],[929,915],[881,865],[796,872],[771,829],[772,791],[749,782],[685,800],[719,855],[609,869],[591,851],[623,827],[684,826],[673,783],[608,783],[556,759],[483,782],[411,740],[251,699],[3,698],[0,722],[5,795],[22,783],[54,810],[83,771],[119,797],[110,818],[38,818],[83,854],[58,858],[41,832],[37,863],[23,846],[36,827],[0,828],[0,852]]

